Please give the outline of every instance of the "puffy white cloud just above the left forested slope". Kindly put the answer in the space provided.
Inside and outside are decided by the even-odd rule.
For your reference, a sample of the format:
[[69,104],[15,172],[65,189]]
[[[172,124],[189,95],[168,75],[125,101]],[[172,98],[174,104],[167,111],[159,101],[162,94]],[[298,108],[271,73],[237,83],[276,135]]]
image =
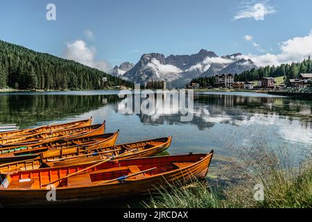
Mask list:
[[96,61],[95,56],[96,49],[94,47],[88,47],[83,40],[67,43],[67,48],[64,52],[64,57],[69,60],[74,60],[102,71],[110,71],[110,64],[105,60]]

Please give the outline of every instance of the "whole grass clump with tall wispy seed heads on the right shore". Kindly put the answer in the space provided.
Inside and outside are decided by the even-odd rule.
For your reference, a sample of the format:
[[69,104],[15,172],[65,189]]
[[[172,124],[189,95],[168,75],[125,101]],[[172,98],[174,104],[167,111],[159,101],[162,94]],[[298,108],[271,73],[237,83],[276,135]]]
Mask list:
[[[240,160],[223,166],[221,177],[229,175],[227,185],[218,177],[207,182],[193,179],[159,187],[146,207],[156,208],[310,208],[312,207],[312,161],[299,167],[293,164],[288,151],[263,151],[250,148],[238,153]],[[283,153],[286,153],[285,155]],[[260,154],[260,155],[259,155]],[[284,156],[281,156],[284,155]],[[211,163],[212,164],[212,163]],[[220,168],[216,164],[213,167]],[[216,172],[215,172],[216,173]],[[264,200],[254,199],[255,185],[263,186]],[[166,187],[166,188],[165,188]]]

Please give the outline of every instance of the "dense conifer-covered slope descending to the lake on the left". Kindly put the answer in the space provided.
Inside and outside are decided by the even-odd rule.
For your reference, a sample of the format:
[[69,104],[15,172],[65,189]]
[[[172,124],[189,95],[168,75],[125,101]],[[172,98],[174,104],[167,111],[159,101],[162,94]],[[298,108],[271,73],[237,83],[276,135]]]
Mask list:
[[103,89],[103,77],[111,86],[133,87],[98,69],[0,40],[0,89]]

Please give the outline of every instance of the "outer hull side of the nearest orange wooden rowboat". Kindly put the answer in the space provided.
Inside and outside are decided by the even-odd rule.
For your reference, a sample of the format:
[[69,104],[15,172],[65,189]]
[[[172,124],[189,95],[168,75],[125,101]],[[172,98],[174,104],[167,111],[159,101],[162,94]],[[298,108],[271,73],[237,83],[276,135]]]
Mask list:
[[[207,155],[201,155],[200,160],[193,162],[188,167],[182,167],[181,169],[173,169],[166,173],[159,173],[155,176],[150,176],[138,180],[127,180],[126,182],[117,182],[103,185],[94,185],[91,187],[66,187],[56,188],[55,197],[56,200],[47,200],[46,196],[51,190],[46,189],[0,189],[0,200],[3,205],[24,205],[25,203],[40,205],[40,204],[55,204],[64,202],[76,202],[83,200],[98,200],[105,198],[122,198],[124,196],[132,196],[137,194],[148,194],[155,191],[157,187],[162,185],[168,187],[176,182],[188,182],[196,178],[205,178],[207,175],[209,165],[211,162],[213,152]],[[164,158],[170,159],[172,156],[166,157],[149,157],[132,160],[121,160],[119,165],[123,166],[126,161],[130,162],[144,162],[153,161],[155,164],[164,160]],[[181,155],[179,161],[190,161],[192,158],[197,158],[197,155]],[[152,159],[151,159],[152,158]],[[183,159],[183,160],[182,160]],[[137,160],[137,161],[135,161]]]

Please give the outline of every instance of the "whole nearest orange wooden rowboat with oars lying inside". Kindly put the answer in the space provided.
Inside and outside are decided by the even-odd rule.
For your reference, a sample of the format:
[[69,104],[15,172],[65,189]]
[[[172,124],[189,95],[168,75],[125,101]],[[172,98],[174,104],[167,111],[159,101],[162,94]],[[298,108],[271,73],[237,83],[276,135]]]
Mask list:
[[3,205],[53,204],[148,194],[159,185],[205,178],[212,156],[213,151],[20,171],[3,180],[0,200]]

